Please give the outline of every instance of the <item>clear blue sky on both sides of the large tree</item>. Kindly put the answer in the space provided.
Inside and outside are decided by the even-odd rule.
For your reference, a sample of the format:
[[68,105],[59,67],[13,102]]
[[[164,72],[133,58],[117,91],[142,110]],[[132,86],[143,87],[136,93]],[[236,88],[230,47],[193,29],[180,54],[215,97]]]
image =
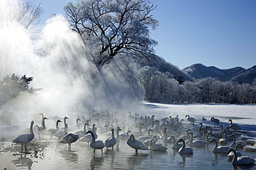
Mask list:
[[[23,0],[27,1],[27,0]],[[51,14],[64,13],[65,0],[42,2],[42,24]],[[69,0],[71,1],[71,0]],[[75,2],[75,1],[74,1]],[[151,0],[160,23],[152,39],[156,54],[180,69],[194,63],[221,69],[256,65],[255,0]]]

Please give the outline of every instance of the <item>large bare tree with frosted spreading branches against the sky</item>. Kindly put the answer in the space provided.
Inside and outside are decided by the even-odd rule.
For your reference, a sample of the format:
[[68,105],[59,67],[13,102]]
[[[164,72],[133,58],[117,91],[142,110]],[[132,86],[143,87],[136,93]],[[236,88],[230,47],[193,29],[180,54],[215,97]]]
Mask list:
[[102,66],[116,54],[150,59],[156,41],[149,37],[158,21],[156,6],[148,0],[82,0],[64,7],[71,28],[91,47],[94,62]]

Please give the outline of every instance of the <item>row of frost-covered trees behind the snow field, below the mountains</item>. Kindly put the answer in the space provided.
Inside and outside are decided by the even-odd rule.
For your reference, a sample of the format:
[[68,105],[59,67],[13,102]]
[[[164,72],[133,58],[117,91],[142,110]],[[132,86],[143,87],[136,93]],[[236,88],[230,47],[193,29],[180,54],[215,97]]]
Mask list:
[[145,88],[145,100],[156,103],[256,103],[256,78],[252,85],[210,77],[183,81],[182,76],[174,79],[170,72],[143,67],[138,81]]

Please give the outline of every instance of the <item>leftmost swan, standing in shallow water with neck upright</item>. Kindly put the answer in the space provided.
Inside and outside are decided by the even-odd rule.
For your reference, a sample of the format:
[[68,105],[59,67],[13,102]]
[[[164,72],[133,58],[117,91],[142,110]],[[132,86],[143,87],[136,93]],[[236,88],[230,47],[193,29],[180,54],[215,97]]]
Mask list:
[[30,123],[30,134],[21,134],[17,136],[17,138],[15,138],[14,140],[12,140],[12,142],[21,144],[21,152],[22,152],[22,146],[25,145],[25,151],[26,151],[27,143],[33,140],[33,138],[35,138],[35,135],[33,133],[33,125],[34,125],[34,121],[32,120]]

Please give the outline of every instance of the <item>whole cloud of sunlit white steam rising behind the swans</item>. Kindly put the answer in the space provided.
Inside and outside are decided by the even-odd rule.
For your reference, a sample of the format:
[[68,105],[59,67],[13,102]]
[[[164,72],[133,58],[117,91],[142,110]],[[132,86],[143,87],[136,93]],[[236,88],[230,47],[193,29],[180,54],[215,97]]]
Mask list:
[[[12,23],[13,16],[4,10],[10,8],[7,2],[2,1],[0,7],[5,14],[0,18],[1,77],[26,74],[34,77],[31,87],[42,88],[35,98],[21,96],[24,102],[16,103],[19,111],[23,111],[19,116],[26,119],[26,125],[32,118],[38,118],[39,112],[48,117],[73,116],[75,119],[77,114],[89,114],[93,109],[101,114],[106,109],[126,113],[137,109],[134,99],[143,94],[143,90],[138,86],[138,92],[134,92],[128,87],[122,72],[129,70],[129,66],[116,59],[98,70],[91,60],[92,52],[80,36],[68,28],[68,21],[60,14],[48,19],[42,36],[32,41],[19,23]],[[13,110],[14,105],[3,109],[19,112],[17,107]]]

